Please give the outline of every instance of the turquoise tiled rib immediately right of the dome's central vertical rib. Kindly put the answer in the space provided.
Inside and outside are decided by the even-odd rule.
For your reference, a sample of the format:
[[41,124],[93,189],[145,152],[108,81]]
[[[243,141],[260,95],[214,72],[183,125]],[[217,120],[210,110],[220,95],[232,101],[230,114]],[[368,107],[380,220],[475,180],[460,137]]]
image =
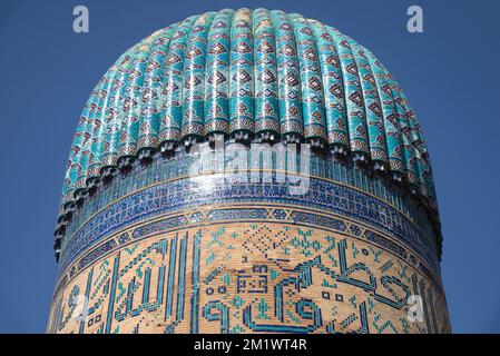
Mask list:
[[276,71],[276,36],[266,9],[253,16],[255,60],[255,134],[257,141],[280,139],[280,107]]

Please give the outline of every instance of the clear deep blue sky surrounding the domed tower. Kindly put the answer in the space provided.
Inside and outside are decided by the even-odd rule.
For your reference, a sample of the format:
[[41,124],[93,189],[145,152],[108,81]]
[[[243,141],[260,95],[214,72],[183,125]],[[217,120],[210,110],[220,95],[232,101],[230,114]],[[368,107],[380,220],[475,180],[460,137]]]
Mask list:
[[[90,32],[72,31],[72,9]],[[406,9],[424,33],[406,31]],[[0,2],[0,332],[42,333],[55,285],[52,230],[77,118],[104,71],[193,13],[265,7],[339,28],[404,88],[431,152],[443,281],[455,333],[500,333],[500,2],[493,0]]]

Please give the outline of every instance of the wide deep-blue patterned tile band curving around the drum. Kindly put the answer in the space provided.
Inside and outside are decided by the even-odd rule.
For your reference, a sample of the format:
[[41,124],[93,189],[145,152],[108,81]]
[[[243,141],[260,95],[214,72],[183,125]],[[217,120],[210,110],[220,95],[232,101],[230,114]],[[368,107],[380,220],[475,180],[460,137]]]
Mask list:
[[[394,207],[369,194],[312,177],[306,194],[298,196],[290,195],[286,182],[278,182],[276,177],[266,182],[243,181],[237,184],[231,180],[235,178],[228,174],[212,175],[210,177],[213,180],[209,181],[209,187],[204,186],[208,180],[206,177],[203,177],[204,185],[196,185],[189,178],[175,179],[135,191],[97,211],[87,222],[82,222],[77,230],[67,236],[59,261],[59,279],[63,278],[69,265],[80,258],[82,254],[128,226],[169,214],[177,216],[170,219],[169,224],[182,227],[186,224],[186,217],[179,217],[179,211],[192,211],[202,206],[243,205],[254,207],[259,204],[300,208],[301,211],[294,211],[288,217],[295,222],[303,222],[307,219],[314,222],[316,215],[307,212],[313,210],[370,226],[409,247],[424,261],[427,268],[430,269],[429,273],[439,278],[439,260],[433,235],[422,230],[420,225],[413,222],[410,217]],[[268,218],[265,208],[237,211],[239,214],[247,211],[249,217],[254,214],[258,218]],[[206,219],[217,221],[220,219],[220,214],[223,211],[214,211]],[[231,218],[232,212],[226,212],[225,216]],[[325,219],[321,221],[325,221]],[[333,220],[324,224],[333,224],[340,231],[343,230],[342,224],[335,224]],[[386,245],[378,236],[369,238]]]

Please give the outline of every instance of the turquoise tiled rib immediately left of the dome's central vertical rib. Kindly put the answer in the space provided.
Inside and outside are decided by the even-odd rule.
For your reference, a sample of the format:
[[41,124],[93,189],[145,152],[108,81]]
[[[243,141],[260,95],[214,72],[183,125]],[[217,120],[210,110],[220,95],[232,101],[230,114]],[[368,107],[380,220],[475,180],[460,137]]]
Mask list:
[[229,134],[229,48],[233,10],[217,12],[208,32],[205,65],[205,135]]

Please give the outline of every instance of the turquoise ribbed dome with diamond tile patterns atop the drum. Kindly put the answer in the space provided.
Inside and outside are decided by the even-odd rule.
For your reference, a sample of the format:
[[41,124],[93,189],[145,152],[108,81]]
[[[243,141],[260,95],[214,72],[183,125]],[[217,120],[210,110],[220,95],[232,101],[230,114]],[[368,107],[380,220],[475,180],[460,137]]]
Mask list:
[[75,134],[60,219],[87,188],[134,157],[216,134],[307,141],[405,181],[435,210],[415,115],[373,53],[301,14],[239,9],[161,29],[104,75]]

